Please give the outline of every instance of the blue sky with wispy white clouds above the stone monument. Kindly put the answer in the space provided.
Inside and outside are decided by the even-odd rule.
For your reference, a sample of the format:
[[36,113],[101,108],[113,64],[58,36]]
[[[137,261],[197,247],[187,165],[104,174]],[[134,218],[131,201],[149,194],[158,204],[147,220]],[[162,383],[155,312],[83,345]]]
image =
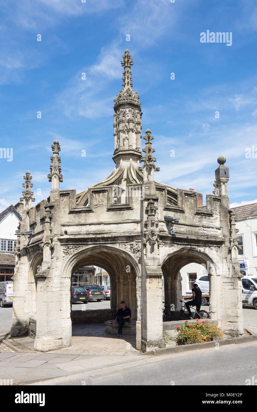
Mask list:
[[[257,159],[245,157],[248,147],[257,150],[255,0],[1,0],[0,5],[0,146],[13,148],[12,162],[0,159],[1,209],[19,201],[27,170],[34,204],[49,195],[55,139],[61,145],[61,189],[80,192],[111,173],[113,99],[122,89],[125,49],[134,62],[142,135],[149,128],[155,137],[160,166],[155,179],[193,188],[205,201],[214,189],[217,157],[224,155],[232,206],[257,201]],[[200,43],[207,30],[232,32],[232,45]]]

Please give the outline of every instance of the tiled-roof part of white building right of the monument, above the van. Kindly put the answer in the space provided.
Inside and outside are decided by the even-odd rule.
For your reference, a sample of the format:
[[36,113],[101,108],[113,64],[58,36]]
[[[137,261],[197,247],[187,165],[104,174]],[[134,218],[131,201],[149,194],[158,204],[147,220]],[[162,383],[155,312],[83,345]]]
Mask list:
[[240,271],[246,275],[257,275],[257,203],[232,208],[238,230],[238,259]]

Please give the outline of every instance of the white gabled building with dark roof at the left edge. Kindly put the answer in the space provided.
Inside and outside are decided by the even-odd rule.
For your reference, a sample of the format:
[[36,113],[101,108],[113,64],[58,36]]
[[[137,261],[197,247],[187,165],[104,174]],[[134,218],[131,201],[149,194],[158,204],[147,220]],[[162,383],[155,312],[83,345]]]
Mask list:
[[19,221],[21,202],[10,205],[0,213],[0,281],[11,280],[14,274],[16,246],[15,231]]

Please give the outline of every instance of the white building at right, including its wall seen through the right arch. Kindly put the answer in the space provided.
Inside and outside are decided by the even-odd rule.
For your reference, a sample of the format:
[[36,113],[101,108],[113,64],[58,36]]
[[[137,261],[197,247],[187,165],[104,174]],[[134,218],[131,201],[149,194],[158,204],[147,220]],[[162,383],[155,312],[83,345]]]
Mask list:
[[[246,275],[257,275],[257,203],[231,208],[235,213],[238,229],[238,260],[240,271]],[[182,295],[191,293],[194,280],[206,276],[204,267],[197,263],[189,263],[180,270],[182,276]]]

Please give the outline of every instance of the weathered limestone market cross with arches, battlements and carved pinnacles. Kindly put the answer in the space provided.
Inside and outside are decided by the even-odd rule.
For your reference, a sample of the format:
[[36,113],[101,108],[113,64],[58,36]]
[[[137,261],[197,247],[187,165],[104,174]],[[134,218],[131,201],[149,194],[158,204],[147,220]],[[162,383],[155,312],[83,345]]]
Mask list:
[[[132,89],[131,65],[126,50],[123,90],[114,105],[115,168],[110,176],[78,194],[75,189],[60,190],[57,140],[48,175],[50,196],[31,207],[32,177],[29,172],[24,176],[12,336],[34,334],[40,351],[71,344],[71,316],[73,321],[100,319],[97,313],[71,315],[71,276],[82,265],[97,265],[109,273],[111,310],[103,312],[103,321],[124,300],[132,311],[137,349],[165,346],[162,276],[165,301],[177,310],[182,296],[179,271],[189,262],[207,267],[212,319],[227,335],[243,334],[238,239],[227,197],[226,159],[218,159],[215,190],[207,195],[206,206],[199,206],[197,192],[156,182],[159,168],[149,129],[144,157],[141,153],[141,103]],[[174,223],[174,217],[179,221]]]

